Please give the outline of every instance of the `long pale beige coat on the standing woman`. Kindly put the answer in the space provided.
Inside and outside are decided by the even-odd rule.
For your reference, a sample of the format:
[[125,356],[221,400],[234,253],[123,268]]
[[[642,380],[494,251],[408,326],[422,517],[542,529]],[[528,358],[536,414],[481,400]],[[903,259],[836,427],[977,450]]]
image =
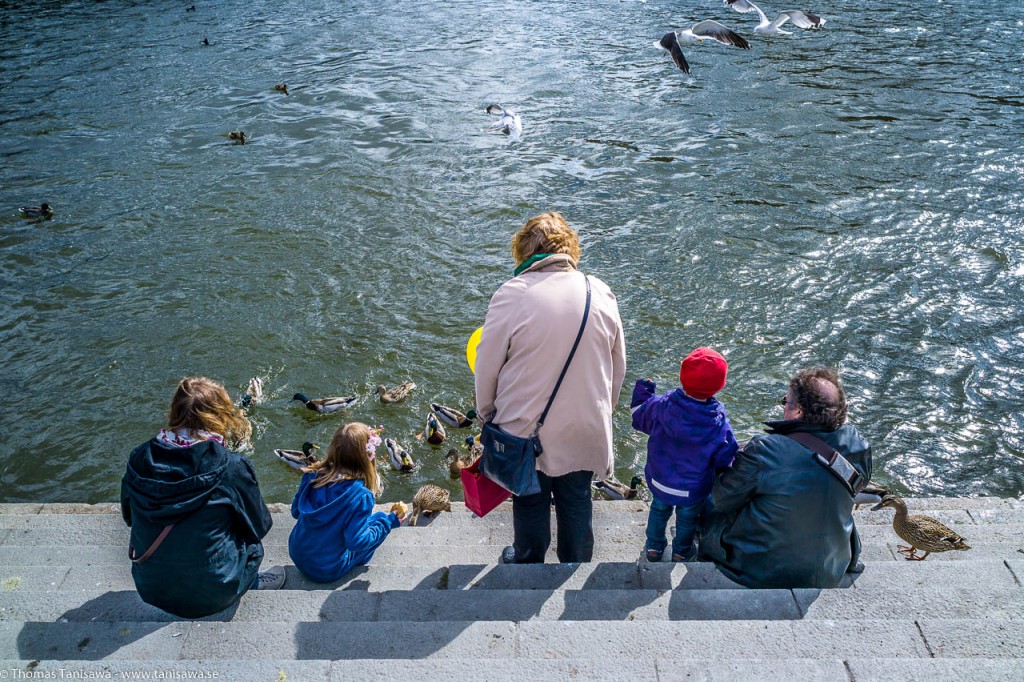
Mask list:
[[[626,376],[615,296],[595,276],[587,329],[541,429],[537,468],[549,476],[612,469],[611,411]],[[476,349],[476,413],[517,436],[534,431],[583,321],[587,287],[567,255],[534,263],[487,307]]]

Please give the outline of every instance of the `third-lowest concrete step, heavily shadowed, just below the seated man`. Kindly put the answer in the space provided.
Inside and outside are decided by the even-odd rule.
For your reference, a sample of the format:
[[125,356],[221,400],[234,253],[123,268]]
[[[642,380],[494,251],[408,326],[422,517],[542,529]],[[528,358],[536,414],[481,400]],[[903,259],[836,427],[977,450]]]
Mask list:
[[[280,590],[250,592],[211,616],[234,623],[430,621],[784,621],[905,617],[1024,620],[1024,590]],[[134,591],[4,596],[0,621],[178,619]]]

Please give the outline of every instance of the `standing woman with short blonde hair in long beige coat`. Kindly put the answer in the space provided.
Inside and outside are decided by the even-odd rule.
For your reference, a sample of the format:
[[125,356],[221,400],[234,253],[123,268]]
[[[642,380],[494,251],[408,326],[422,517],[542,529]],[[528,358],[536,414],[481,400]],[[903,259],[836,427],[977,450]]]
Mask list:
[[[580,331],[587,300],[580,255],[580,237],[558,213],[530,218],[512,238],[514,276],[492,297],[476,349],[476,413],[512,435],[534,432]],[[590,483],[611,473],[611,410],[626,376],[626,340],[615,296],[589,280],[587,325],[539,434],[541,492],[513,499],[515,541],[502,553],[505,563],[544,561],[552,501],[558,560],[594,555]]]

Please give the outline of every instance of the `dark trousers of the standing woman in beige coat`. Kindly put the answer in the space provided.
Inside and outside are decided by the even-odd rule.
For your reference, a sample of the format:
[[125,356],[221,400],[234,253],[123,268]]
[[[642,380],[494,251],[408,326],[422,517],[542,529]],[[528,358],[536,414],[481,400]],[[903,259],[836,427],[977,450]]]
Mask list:
[[551,545],[551,501],[558,521],[558,560],[562,563],[590,561],[594,556],[594,503],[591,471],[548,476],[540,471],[541,492],[512,498],[515,531],[515,562],[544,563]]

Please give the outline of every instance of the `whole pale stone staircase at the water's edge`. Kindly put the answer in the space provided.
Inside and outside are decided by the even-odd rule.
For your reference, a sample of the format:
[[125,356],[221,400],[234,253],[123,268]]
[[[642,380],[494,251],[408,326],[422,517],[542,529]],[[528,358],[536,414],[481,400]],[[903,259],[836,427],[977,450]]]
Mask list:
[[835,590],[640,561],[639,502],[595,504],[590,564],[498,564],[510,506],[454,504],[322,585],[273,505],[264,566],[285,588],[195,622],[139,600],[116,505],[0,504],[0,680],[1024,680],[1024,504],[907,503],[972,549],[908,562],[892,513],[858,511],[866,569]]

